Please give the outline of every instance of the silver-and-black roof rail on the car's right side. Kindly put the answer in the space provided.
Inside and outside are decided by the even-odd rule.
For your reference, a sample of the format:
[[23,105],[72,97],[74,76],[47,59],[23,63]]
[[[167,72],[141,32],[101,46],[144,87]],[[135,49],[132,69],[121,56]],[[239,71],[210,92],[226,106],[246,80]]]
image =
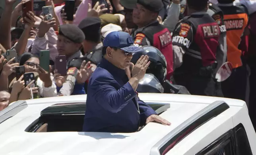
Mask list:
[[159,140],[159,142],[157,142],[157,144],[151,148],[150,155],[165,155],[168,151],[170,151],[170,149],[178,144],[180,140],[193,132],[193,130],[227,109],[229,109],[229,105],[224,101],[215,101],[209,104],[209,106],[194,114],[192,117],[178,125],[178,127]]

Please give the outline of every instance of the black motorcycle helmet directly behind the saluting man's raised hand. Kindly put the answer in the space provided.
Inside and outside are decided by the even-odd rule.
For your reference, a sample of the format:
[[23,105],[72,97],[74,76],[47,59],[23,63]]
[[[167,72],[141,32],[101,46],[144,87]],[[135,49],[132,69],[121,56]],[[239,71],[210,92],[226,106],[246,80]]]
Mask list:
[[143,46],[141,49],[144,51],[134,53],[131,62],[136,64],[142,55],[147,55],[151,63],[149,64],[146,73],[153,74],[158,81],[162,83],[167,72],[165,56],[159,51],[159,49],[153,46]]

